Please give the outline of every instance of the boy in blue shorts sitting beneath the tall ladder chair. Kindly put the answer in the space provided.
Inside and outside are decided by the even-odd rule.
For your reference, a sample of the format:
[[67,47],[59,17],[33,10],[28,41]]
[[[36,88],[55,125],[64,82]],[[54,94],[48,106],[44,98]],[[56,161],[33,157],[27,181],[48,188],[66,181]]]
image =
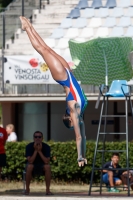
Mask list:
[[121,168],[121,166],[119,165],[119,159],[120,159],[119,153],[113,153],[111,157],[111,161],[103,165],[103,168],[107,168],[107,170],[103,169],[102,180],[108,187],[109,192],[119,192],[119,190],[116,189],[115,186],[122,184],[121,175],[123,171],[112,170],[115,168]]

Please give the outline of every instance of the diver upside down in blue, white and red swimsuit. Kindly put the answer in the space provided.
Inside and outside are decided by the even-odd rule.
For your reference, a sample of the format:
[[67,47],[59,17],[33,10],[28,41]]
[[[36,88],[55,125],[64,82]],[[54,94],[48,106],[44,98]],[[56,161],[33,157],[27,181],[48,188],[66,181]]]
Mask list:
[[31,23],[25,17],[20,17],[22,29],[26,31],[32,46],[43,57],[51,71],[53,79],[64,87],[66,92],[67,108],[63,116],[63,122],[67,128],[74,128],[78,152],[78,165],[87,164],[86,135],[83,122],[83,112],[87,106],[87,98],[79,83],[71,73],[68,63],[54,52],[35,31]]

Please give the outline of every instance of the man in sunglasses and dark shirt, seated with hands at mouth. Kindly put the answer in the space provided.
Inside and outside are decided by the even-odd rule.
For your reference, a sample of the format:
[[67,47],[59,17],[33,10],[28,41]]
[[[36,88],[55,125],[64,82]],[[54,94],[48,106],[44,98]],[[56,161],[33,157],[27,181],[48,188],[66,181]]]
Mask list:
[[[26,146],[26,191],[25,195],[30,193],[30,181],[32,174],[45,173],[46,181],[46,195],[52,195],[50,192],[51,181],[51,168],[50,168],[50,146],[43,141],[43,134],[40,131],[36,131],[33,134],[34,142],[29,143]],[[41,173],[42,172],[42,173]]]

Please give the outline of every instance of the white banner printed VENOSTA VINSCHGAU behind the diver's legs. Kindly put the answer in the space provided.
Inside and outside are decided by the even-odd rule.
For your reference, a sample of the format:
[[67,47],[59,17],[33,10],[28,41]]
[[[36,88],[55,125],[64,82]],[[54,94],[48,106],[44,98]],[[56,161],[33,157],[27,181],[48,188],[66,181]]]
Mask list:
[[57,84],[39,56],[5,56],[4,82],[9,84]]

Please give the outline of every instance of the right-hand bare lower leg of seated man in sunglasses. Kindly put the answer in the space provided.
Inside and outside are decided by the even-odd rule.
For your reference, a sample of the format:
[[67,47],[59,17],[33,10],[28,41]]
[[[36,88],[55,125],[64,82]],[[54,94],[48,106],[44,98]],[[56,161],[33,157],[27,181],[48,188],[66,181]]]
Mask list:
[[50,181],[51,181],[51,167],[49,164],[44,165],[45,181],[46,181],[46,194],[52,194],[50,192]]

